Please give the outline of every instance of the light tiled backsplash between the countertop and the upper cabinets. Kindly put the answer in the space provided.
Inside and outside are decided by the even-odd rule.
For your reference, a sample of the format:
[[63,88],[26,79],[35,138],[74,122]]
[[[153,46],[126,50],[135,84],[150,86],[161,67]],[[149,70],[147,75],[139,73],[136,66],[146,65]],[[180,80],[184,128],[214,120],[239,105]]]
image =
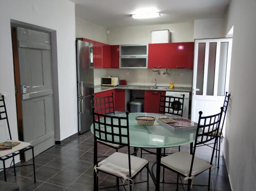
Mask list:
[[100,77],[117,76],[119,80],[127,80],[128,84],[155,84],[155,78],[158,85],[168,86],[174,82],[176,86],[191,87],[193,70],[191,69],[168,69],[168,75],[163,75],[165,69],[160,69],[160,75],[153,72],[152,69],[94,69],[94,84],[100,85]]

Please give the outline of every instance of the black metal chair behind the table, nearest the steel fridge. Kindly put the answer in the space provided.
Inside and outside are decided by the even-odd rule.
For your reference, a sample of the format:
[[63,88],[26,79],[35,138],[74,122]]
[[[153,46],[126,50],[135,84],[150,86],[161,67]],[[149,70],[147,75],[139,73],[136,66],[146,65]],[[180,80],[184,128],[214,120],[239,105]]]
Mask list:
[[[94,107],[94,111],[96,113],[105,114],[105,115],[115,114],[114,93],[113,92],[112,92],[111,96],[95,98],[94,94],[92,94],[92,97],[93,97],[93,107]],[[101,140],[98,140],[98,143],[108,146],[110,148],[113,148],[116,150],[116,152],[118,152],[118,149],[123,147],[118,144],[111,144],[110,142],[105,142],[105,141],[101,141]]]

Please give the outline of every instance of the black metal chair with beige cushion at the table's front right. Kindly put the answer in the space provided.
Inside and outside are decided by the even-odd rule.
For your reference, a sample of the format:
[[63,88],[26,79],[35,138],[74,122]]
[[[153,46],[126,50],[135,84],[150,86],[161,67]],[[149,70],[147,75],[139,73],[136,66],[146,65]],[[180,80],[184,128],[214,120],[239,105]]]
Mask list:
[[[198,185],[198,186],[207,186],[208,190],[210,190],[210,175],[212,168],[212,160],[214,158],[214,152],[218,141],[218,132],[221,124],[221,118],[223,113],[223,107],[221,107],[221,112],[210,115],[210,116],[202,116],[202,111],[199,112],[199,120],[197,127],[196,139],[193,147],[193,154],[189,154],[187,152],[181,151],[174,153],[172,155],[168,155],[166,157],[161,158],[161,165],[175,173],[177,173],[177,182],[169,184],[177,184],[177,190],[179,184],[182,184],[184,190],[184,184],[180,176],[185,177],[185,180],[188,180],[187,190],[190,190],[190,186],[192,186],[192,180],[201,174],[202,172],[209,169],[209,177],[208,177],[208,185]],[[214,147],[212,150],[210,162],[198,158],[195,156],[196,148],[200,145],[204,145],[209,141],[214,140]],[[179,178],[181,183],[179,183]],[[194,184],[197,185],[197,184]]]

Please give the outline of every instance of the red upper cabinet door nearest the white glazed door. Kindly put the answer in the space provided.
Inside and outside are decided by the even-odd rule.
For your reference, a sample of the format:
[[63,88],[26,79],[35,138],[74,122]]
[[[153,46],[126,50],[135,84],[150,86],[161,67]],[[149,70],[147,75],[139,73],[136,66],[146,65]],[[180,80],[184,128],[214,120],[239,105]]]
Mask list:
[[193,69],[194,42],[175,42],[169,44],[172,66]]

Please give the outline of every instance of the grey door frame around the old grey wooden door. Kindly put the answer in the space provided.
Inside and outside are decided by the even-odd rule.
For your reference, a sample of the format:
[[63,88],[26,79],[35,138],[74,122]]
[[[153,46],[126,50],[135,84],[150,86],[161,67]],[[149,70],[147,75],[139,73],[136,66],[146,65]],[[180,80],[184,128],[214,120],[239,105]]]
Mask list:
[[[54,100],[53,108],[54,108],[54,131],[55,131],[54,137],[56,142],[56,139],[58,139],[58,137],[60,136],[56,31],[11,19],[11,39],[12,39],[13,71],[14,71],[14,86],[15,86],[15,100],[16,100],[16,114],[17,114],[17,131],[18,131],[18,139],[21,141],[24,141],[24,137],[23,137],[22,94],[21,94],[21,87],[20,87],[18,44],[17,44],[18,41],[17,41],[17,33],[16,33],[17,27],[39,31],[39,32],[45,32],[51,35],[52,83],[53,83],[53,100]],[[20,156],[20,160],[24,161],[25,156],[24,155]]]

